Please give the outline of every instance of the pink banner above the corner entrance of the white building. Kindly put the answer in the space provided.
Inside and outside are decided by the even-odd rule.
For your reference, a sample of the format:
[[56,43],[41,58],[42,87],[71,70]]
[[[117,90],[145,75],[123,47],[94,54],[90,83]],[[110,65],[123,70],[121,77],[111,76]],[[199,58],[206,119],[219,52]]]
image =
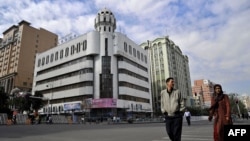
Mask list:
[[102,99],[93,99],[92,108],[116,108],[117,99],[113,98],[102,98]]

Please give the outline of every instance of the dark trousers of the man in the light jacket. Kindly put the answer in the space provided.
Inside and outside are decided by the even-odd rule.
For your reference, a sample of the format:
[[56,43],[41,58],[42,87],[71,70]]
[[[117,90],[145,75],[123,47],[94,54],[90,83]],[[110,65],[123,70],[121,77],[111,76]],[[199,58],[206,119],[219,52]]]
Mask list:
[[171,141],[181,141],[182,116],[166,116],[166,130]]

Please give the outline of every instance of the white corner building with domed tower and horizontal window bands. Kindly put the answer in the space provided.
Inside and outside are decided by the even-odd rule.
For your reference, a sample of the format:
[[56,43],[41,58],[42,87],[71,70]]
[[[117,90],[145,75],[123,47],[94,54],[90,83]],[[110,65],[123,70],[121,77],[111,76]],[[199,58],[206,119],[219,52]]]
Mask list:
[[48,99],[42,113],[86,113],[119,117],[151,113],[146,50],[115,32],[116,18],[102,9],[95,31],[37,54],[33,92]]

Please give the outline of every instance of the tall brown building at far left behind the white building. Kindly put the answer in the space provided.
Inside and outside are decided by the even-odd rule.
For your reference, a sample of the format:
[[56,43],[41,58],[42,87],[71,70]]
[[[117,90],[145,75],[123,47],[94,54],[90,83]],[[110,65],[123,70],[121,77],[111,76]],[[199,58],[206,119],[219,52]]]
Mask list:
[[32,88],[35,55],[57,45],[57,35],[43,28],[36,29],[21,21],[3,32],[0,39],[0,85],[5,92],[13,88]]

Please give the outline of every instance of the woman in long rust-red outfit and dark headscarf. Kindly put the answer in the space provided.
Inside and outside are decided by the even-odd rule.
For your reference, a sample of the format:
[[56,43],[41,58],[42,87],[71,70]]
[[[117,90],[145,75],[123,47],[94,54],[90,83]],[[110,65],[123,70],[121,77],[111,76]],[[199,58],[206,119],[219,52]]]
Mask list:
[[213,117],[214,141],[224,141],[224,125],[232,124],[232,119],[228,95],[223,93],[222,87],[219,84],[214,85],[208,120],[212,121]]

